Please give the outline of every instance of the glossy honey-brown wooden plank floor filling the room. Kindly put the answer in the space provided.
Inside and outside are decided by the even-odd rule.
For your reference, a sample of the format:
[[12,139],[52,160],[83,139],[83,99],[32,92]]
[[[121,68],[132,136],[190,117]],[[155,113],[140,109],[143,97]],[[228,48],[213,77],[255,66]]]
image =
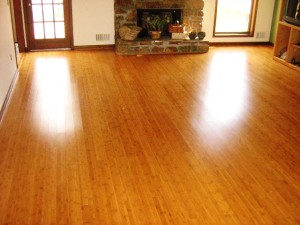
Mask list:
[[300,224],[300,74],[264,46],[28,53],[0,224]]

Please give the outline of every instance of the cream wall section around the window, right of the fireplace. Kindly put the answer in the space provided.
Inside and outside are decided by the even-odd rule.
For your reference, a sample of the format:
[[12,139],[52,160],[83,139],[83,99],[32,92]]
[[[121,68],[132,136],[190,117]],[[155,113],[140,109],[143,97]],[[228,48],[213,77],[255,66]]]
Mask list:
[[[206,32],[206,41],[210,42],[268,42],[272,27],[275,0],[259,0],[254,37],[213,37],[216,0],[204,0],[204,18],[202,30]],[[264,38],[257,38],[257,33],[264,33]]]

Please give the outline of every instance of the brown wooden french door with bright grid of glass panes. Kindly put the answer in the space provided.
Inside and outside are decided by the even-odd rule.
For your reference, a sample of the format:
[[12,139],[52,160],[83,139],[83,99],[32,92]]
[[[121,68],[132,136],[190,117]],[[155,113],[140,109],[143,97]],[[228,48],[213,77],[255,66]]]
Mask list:
[[71,48],[69,0],[25,0],[28,49]]

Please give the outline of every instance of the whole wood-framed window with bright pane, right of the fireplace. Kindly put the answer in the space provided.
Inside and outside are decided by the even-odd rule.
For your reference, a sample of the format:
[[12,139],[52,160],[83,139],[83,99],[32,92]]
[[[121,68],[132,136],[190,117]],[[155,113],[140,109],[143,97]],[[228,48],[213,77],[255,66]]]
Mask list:
[[258,0],[217,0],[214,37],[253,37]]

